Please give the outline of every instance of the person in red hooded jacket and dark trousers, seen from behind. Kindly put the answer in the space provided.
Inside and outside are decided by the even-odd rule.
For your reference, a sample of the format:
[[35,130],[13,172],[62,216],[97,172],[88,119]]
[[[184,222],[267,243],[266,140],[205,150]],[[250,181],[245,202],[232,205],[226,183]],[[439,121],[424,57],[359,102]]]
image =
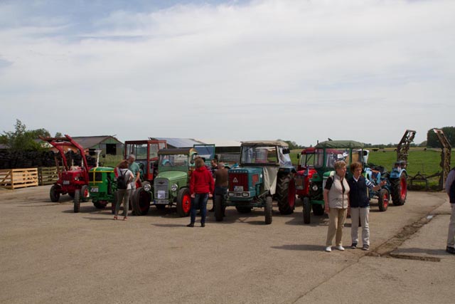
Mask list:
[[190,194],[191,194],[191,223],[186,225],[194,227],[196,221],[196,210],[200,209],[200,226],[205,227],[205,216],[207,214],[207,201],[213,196],[215,183],[212,173],[205,167],[201,157],[195,159],[196,169],[191,174]]

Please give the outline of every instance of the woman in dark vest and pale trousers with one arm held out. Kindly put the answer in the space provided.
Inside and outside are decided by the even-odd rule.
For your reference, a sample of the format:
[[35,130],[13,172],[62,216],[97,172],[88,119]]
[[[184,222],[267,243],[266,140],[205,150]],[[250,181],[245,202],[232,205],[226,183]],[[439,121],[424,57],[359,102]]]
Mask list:
[[350,172],[353,176],[348,179],[349,184],[349,203],[350,203],[350,237],[352,245],[350,248],[357,248],[358,243],[358,226],[362,226],[362,249],[369,250],[370,248],[370,226],[368,226],[368,217],[370,214],[370,197],[368,197],[367,188],[378,191],[385,185],[382,181],[380,185],[375,186],[372,182],[362,175],[363,165],[360,162],[350,164]]

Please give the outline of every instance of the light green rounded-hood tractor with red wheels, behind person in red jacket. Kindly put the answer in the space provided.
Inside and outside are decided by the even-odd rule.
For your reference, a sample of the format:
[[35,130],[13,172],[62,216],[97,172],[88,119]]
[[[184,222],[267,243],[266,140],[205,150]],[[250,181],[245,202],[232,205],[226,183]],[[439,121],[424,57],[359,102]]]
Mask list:
[[159,150],[159,174],[154,179],[154,187],[137,189],[133,196],[134,213],[145,215],[153,204],[157,209],[176,206],[179,216],[188,216],[191,207],[189,181],[196,155],[194,148]]

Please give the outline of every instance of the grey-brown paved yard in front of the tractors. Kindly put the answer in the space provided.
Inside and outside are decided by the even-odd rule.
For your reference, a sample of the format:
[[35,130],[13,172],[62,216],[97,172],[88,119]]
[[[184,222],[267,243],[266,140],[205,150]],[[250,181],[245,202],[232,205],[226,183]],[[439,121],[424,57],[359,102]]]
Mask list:
[[328,219],[304,225],[301,204],[275,206],[271,225],[230,207],[188,228],[154,207],[129,221],[91,203],[74,214],[49,189],[0,190],[0,303],[454,303],[444,193],[409,192],[385,212],[373,200],[371,250],[326,253]]

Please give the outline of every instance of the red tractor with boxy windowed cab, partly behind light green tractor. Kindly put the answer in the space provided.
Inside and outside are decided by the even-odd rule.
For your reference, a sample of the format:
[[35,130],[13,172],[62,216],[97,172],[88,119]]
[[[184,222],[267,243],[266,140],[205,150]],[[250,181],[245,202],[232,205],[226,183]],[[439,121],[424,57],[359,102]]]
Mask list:
[[154,177],[158,174],[158,151],[166,147],[166,140],[127,140],[125,142],[125,159],[129,154],[134,154],[141,169],[141,180],[137,188],[144,187],[150,191]]

